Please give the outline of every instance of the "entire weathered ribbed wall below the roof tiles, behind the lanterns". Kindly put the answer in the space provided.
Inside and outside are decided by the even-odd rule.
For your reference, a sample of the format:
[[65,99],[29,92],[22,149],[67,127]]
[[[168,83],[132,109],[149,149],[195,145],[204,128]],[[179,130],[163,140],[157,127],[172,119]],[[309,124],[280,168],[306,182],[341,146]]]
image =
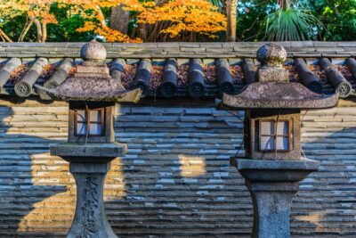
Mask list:
[[[106,180],[110,224],[121,237],[248,236],[251,200],[229,166],[231,155],[244,152],[240,120],[213,102],[174,104],[117,106],[117,141],[129,151]],[[63,236],[74,214],[74,180],[48,146],[67,136],[67,105],[0,105],[0,236]],[[295,199],[295,237],[356,235],[355,109],[342,102],[303,118],[303,150],[321,167]]]

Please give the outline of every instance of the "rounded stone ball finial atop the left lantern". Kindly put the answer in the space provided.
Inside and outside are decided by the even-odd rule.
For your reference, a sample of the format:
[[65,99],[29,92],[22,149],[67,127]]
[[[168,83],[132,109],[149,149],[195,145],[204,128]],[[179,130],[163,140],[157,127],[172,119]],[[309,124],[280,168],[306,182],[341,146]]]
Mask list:
[[106,49],[104,45],[93,39],[82,46],[80,57],[89,62],[104,62],[106,59]]

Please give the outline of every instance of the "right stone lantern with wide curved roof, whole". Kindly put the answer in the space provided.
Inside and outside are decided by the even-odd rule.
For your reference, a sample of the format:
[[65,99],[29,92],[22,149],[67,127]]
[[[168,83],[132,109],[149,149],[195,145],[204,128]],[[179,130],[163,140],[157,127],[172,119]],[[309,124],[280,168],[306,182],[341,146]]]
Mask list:
[[240,94],[223,94],[220,107],[245,110],[246,158],[231,158],[251,193],[254,204],[252,237],[290,237],[289,212],[299,182],[319,168],[301,157],[301,110],[336,106],[338,95],[315,94],[289,82],[282,68],[286,50],[263,45],[257,53],[261,66],[256,82]]

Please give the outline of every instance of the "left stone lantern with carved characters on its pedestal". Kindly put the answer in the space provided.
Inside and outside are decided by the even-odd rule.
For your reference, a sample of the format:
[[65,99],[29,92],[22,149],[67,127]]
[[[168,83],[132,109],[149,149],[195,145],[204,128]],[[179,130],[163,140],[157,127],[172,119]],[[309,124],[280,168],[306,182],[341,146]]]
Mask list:
[[77,184],[76,214],[67,237],[117,237],[109,226],[103,205],[103,182],[110,161],[125,153],[115,142],[115,103],[138,102],[141,89],[125,88],[109,76],[106,49],[95,40],[81,50],[83,65],[73,78],[41,94],[69,102],[68,143],[51,147],[51,154],[69,161]]

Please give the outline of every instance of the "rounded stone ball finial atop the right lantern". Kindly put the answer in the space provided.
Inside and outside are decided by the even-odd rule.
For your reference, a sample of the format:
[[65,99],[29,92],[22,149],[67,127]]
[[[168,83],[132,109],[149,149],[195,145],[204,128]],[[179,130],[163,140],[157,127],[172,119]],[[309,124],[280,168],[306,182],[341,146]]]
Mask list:
[[287,59],[287,51],[283,46],[268,43],[258,50],[257,60],[262,66],[281,67]]

